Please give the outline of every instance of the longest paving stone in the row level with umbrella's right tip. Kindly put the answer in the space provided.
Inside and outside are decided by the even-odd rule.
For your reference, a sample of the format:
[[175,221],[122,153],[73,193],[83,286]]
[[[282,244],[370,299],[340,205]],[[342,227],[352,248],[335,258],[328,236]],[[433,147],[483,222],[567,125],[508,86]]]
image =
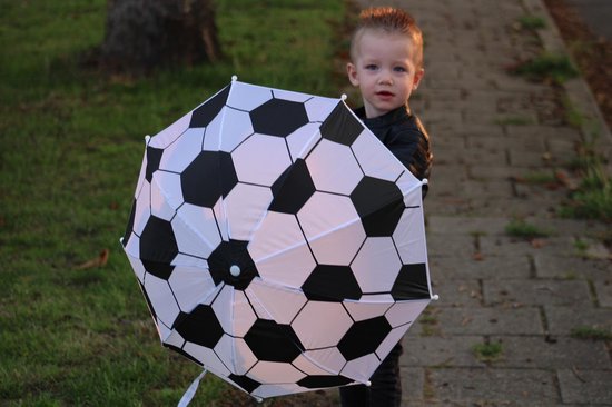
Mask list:
[[589,306],[593,304],[589,284],[584,280],[484,280],[483,298],[486,305]]

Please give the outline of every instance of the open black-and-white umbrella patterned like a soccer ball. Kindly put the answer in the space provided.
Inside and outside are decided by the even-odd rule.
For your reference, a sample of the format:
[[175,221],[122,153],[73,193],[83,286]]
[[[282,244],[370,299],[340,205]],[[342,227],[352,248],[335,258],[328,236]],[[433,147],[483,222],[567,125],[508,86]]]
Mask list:
[[234,78],[147,138],[122,245],[162,345],[230,384],[367,383],[432,299],[422,183],[343,100]]

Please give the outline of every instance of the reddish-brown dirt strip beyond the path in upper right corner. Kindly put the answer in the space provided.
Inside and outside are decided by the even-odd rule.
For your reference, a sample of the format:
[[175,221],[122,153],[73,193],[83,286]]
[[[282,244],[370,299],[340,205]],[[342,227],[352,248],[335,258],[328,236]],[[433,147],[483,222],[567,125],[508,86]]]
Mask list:
[[544,0],[544,3],[591,87],[608,127],[612,128],[612,42],[594,34],[564,0]]

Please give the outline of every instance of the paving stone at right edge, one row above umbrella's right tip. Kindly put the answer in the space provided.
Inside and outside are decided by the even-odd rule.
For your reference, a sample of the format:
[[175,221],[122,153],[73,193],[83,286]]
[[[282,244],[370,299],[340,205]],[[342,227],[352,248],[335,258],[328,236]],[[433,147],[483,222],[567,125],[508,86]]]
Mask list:
[[565,251],[534,251],[535,275],[541,278],[595,279],[611,278],[610,261],[575,256],[575,247]]

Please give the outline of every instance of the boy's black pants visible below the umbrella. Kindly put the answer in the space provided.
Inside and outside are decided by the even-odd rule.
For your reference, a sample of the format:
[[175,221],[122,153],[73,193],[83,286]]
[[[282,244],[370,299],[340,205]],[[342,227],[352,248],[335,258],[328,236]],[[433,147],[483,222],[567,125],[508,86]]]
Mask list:
[[399,407],[402,379],[399,377],[402,344],[395,345],[381,366],[374,371],[372,385],[340,387],[343,407]]

